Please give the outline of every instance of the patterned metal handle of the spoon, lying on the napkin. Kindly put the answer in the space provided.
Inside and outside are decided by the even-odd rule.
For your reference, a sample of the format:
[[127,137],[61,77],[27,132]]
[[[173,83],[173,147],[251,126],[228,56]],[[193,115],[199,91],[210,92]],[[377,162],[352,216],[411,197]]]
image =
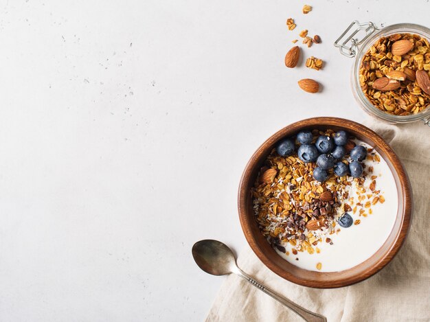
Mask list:
[[266,286],[258,283],[255,279],[247,275],[247,273],[243,272],[239,268],[238,275],[245,279],[245,281],[248,281],[249,284],[256,286],[259,290],[262,290],[264,293],[269,295],[269,297],[272,297],[276,301],[280,302],[287,308],[290,308],[293,310],[296,314],[298,314],[300,317],[302,317],[305,321],[308,322],[327,322],[326,317],[322,316],[321,314],[317,314],[314,312],[311,312],[310,310],[306,310],[306,308],[302,308],[302,306],[297,305],[293,301],[290,301],[289,299],[286,299],[285,297],[280,296],[278,293],[273,292],[273,290],[267,288]]

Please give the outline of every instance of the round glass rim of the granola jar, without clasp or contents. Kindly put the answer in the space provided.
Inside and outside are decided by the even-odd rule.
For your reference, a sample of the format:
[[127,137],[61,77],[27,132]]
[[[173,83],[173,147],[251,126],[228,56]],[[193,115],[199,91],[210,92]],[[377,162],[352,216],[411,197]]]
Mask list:
[[355,62],[352,67],[352,90],[354,92],[354,97],[356,100],[358,100],[365,111],[367,113],[370,113],[372,115],[375,115],[376,117],[380,119],[385,119],[388,122],[396,122],[396,123],[409,123],[409,122],[416,122],[420,119],[425,119],[426,117],[430,117],[430,104],[427,106],[424,111],[418,112],[413,115],[392,115],[389,113],[385,113],[381,111],[380,109],[376,108],[370,100],[365,97],[361,86],[360,86],[360,65],[361,60],[363,59],[364,54],[367,52],[367,50],[374,44],[376,40],[378,40],[381,37],[389,36],[390,34],[396,34],[396,33],[409,33],[409,34],[418,34],[419,36],[427,38],[427,40],[430,41],[430,29],[427,27],[424,27],[422,25],[416,25],[414,23],[398,23],[395,25],[389,25],[387,27],[383,27],[380,30],[376,30],[374,34],[372,34],[369,38],[367,38],[363,44],[360,45],[359,50],[357,51],[357,56],[355,57]]

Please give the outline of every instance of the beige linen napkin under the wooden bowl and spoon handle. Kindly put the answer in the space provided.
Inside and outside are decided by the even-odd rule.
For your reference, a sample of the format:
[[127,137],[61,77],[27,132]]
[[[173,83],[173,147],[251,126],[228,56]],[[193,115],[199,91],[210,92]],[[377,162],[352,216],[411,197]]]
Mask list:
[[[407,240],[394,260],[370,279],[346,288],[317,290],[275,275],[247,248],[238,265],[275,292],[328,321],[430,321],[430,128],[376,121],[381,135],[403,161],[414,191]],[[302,321],[295,313],[236,275],[221,286],[206,321]]]

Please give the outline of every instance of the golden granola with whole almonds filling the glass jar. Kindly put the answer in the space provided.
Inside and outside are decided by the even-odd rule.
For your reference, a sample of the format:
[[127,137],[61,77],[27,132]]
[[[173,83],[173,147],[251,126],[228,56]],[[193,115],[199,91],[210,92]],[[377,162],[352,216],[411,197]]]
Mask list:
[[430,44],[416,34],[380,38],[360,67],[368,100],[393,115],[413,115],[430,105]]

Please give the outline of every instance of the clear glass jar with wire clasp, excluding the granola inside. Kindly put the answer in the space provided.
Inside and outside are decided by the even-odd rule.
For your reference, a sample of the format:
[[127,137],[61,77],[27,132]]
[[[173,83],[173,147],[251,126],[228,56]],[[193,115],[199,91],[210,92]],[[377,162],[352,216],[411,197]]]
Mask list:
[[335,47],[338,47],[341,54],[347,57],[355,58],[351,72],[352,93],[363,110],[372,117],[381,119],[387,123],[403,124],[409,122],[422,121],[430,126],[430,105],[423,111],[413,115],[392,115],[376,108],[370,100],[367,100],[360,86],[360,66],[363,56],[367,50],[378,41],[381,37],[387,37],[392,34],[418,34],[430,41],[430,29],[422,25],[414,25],[412,23],[398,23],[378,29],[374,23],[359,23],[354,21],[335,41]]

